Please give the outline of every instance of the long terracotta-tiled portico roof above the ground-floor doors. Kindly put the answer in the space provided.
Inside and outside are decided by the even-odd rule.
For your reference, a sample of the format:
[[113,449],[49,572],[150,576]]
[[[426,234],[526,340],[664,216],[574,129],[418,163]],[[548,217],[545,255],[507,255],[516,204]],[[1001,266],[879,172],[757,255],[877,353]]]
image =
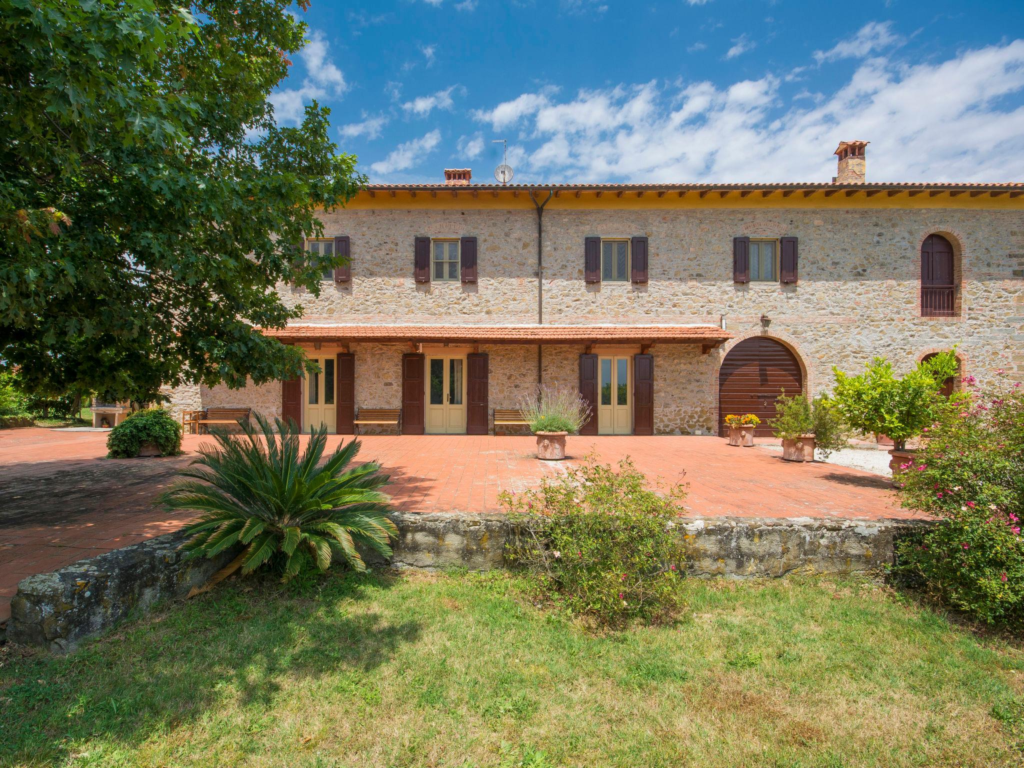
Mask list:
[[717,326],[345,326],[302,325],[264,329],[287,342],[368,341],[460,344],[703,344],[733,338]]

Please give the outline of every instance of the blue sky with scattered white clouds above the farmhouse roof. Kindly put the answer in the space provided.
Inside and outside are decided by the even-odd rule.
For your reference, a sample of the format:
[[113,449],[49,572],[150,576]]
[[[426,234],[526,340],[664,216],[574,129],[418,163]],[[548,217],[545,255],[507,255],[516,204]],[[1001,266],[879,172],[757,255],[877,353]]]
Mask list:
[[372,181],[1024,180],[1024,0],[312,0],[273,94]]

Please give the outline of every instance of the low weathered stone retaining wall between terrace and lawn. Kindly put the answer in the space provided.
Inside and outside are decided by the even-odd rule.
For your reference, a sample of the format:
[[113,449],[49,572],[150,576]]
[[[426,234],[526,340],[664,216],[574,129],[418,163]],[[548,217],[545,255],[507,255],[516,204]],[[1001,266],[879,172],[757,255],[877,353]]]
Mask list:
[[[394,567],[489,570],[505,567],[512,532],[500,514],[395,513]],[[693,575],[780,577],[877,571],[892,562],[897,537],[926,522],[721,517],[687,519],[686,569]],[[131,614],[184,597],[234,556],[185,559],[178,531],[82,560],[18,585],[7,630],[12,642],[73,649]],[[373,562],[373,560],[371,560]]]

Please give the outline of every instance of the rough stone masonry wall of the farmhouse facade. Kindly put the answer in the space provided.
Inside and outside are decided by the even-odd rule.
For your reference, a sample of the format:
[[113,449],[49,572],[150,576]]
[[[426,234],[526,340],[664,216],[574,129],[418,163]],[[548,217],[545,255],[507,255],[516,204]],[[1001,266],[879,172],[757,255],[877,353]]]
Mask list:
[[[309,323],[532,324],[537,321],[536,214],[531,210],[341,210],[326,234],[352,243],[352,283],[325,283],[319,297],[281,290]],[[805,369],[808,389],[829,388],[831,369],[856,372],[876,355],[909,370],[954,344],[963,373],[979,380],[1006,369],[1024,377],[1024,211],[935,209],[560,210],[544,218],[545,323],[558,325],[712,324],[736,339],[701,354],[696,346],[655,345],[655,429],[714,431],[718,368],[752,335],[778,339]],[[961,315],[920,316],[920,248],[932,232],[956,252]],[[476,236],[479,282],[413,281],[413,239]],[[587,285],[588,236],[649,239],[649,283]],[[800,240],[799,283],[732,282],[732,238]],[[482,348],[482,347],[481,347]],[[400,404],[397,345],[353,344],[360,407]],[[536,383],[536,346],[487,346],[492,408],[515,408]],[[583,347],[544,348],[544,381],[575,387]],[[258,391],[257,391],[258,390]],[[253,395],[250,397],[250,392]],[[195,392],[175,408],[198,407]],[[280,385],[231,392],[203,389],[202,406],[251,404],[280,411]]]

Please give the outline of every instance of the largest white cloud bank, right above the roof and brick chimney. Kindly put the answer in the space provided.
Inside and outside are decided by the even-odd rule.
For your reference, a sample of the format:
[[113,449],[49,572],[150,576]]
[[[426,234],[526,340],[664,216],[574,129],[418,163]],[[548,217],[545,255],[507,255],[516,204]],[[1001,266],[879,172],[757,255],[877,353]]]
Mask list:
[[937,62],[870,58],[811,98],[783,101],[782,83],[766,73],[726,86],[581,91],[564,101],[523,94],[479,116],[496,126],[523,123],[529,154],[519,178],[827,181],[843,139],[871,142],[869,179],[1024,177],[1024,106],[1008,104],[1024,96],[1024,40]]

